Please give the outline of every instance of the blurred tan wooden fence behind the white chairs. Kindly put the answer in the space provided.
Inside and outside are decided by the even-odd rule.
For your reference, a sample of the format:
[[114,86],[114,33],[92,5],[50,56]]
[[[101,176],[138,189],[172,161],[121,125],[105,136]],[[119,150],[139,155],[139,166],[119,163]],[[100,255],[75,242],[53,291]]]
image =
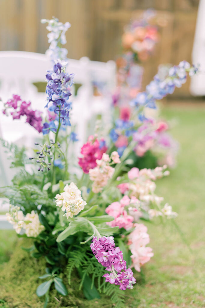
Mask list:
[[[108,61],[120,53],[123,27],[130,18],[152,7],[166,26],[152,59],[145,64],[143,84],[155,75],[160,63],[191,61],[198,0],[0,0],[0,50],[44,53],[47,30],[41,18],[55,16],[69,21],[67,44],[70,58],[88,56]],[[189,83],[176,91],[184,96]]]

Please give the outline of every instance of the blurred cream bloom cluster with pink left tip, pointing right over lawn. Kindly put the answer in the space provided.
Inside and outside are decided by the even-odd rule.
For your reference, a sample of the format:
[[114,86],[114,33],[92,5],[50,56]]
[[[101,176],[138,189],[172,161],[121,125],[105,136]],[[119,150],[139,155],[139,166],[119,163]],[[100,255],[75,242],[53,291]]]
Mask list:
[[167,166],[156,167],[155,169],[141,169],[132,168],[128,172],[128,183],[122,183],[118,185],[121,193],[129,192],[129,196],[136,197],[140,200],[144,200],[144,196],[153,194],[156,188],[156,184],[153,182],[158,178],[169,175],[169,171],[164,171]]

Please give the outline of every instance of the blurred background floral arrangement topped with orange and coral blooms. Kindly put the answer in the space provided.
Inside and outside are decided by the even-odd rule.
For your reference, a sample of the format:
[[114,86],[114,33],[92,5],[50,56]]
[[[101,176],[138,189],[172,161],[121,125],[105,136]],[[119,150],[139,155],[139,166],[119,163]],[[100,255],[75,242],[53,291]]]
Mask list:
[[174,67],[159,67],[154,80],[141,92],[144,69],[139,63],[153,54],[160,38],[157,24],[154,10],[130,22],[122,35],[122,56],[116,60],[118,85],[112,95],[113,125],[109,135],[120,156],[132,140],[136,142],[130,159],[132,166],[140,168],[147,163],[152,168],[164,164],[175,167],[178,143],[169,133],[170,125],[156,115],[151,117],[149,109],[156,109],[156,100],[173,93],[175,87],[186,82],[187,74],[197,70],[186,61]]

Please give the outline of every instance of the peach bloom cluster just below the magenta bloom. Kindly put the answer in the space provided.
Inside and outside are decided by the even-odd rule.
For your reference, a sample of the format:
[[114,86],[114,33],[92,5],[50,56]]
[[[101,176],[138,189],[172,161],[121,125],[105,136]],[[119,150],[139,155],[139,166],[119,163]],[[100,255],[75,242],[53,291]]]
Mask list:
[[[113,154],[114,153],[114,154]],[[111,158],[113,163],[120,163],[119,155],[112,152]],[[93,193],[99,193],[108,184],[108,180],[112,178],[115,169],[110,166],[110,157],[103,153],[101,160],[96,160],[97,167],[89,170],[90,180],[93,181]]]

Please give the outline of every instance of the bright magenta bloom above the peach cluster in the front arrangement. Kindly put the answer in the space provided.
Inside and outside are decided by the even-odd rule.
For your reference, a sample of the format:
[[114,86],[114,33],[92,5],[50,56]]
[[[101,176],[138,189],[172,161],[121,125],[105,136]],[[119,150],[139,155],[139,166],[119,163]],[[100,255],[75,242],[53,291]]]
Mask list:
[[78,158],[78,164],[83,172],[89,173],[90,169],[95,168],[97,166],[96,160],[100,160],[106,151],[107,147],[103,138],[99,141],[97,138],[89,136],[88,141],[81,148],[83,157]]

